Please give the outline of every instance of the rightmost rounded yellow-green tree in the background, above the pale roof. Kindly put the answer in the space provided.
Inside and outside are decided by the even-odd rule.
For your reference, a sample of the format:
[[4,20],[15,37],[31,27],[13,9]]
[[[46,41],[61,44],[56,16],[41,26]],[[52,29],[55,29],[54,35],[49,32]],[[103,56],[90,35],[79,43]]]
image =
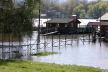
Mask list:
[[98,2],[88,6],[88,15],[92,18],[99,18],[108,11],[108,2]]

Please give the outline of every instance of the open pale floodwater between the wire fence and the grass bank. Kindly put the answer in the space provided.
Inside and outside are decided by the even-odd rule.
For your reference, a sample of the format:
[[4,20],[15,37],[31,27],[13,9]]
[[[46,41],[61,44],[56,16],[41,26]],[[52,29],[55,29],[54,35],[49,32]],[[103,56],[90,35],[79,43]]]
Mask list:
[[[55,48],[54,51],[58,51]],[[95,66],[100,68],[108,68],[108,47],[103,43],[100,47],[99,43],[83,45],[74,44],[72,46],[61,47],[60,54],[50,55],[47,57],[32,57],[33,61],[57,63],[57,64],[74,64],[84,66]]]

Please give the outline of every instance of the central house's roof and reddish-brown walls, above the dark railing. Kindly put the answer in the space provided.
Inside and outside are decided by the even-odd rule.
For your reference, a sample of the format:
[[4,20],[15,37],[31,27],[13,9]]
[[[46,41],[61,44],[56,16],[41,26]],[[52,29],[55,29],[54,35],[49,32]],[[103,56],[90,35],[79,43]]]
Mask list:
[[70,19],[70,18],[54,18],[46,22],[47,28],[66,28],[66,27],[74,27],[78,28],[78,20]]

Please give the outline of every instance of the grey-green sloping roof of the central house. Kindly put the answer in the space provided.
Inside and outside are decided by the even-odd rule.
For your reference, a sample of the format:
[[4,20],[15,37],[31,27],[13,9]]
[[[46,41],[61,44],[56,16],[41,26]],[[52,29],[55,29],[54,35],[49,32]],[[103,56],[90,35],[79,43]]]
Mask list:
[[47,21],[46,23],[70,23],[72,21],[74,21],[74,19],[71,19],[71,18],[54,18],[54,19]]

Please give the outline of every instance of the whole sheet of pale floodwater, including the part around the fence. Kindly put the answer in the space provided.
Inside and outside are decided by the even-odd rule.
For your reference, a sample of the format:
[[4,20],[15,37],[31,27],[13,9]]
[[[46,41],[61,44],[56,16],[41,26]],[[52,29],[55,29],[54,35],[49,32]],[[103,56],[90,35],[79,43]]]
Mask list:
[[[19,46],[27,46],[22,46],[20,48],[13,47],[10,49],[4,48],[4,52],[1,48],[0,55],[5,59],[8,59],[9,55],[10,57],[15,57],[14,53],[9,53],[8,51],[14,52],[14,50],[19,50],[19,53],[22,54],[20,59],[24,60],[56,64],[93,66],[108,69],[108,43],[100,43],[98,40],[96,43],[93,43],[91,42],[91,36],[89,35],[41,36],[41,45],[38,51],[53,51],[58,52],[58,54],[37,57],[30,55],[37,52],[36,38],[37,32],[34,32],[31,39],[24,37],[23,42],[20,44],[17,42],[13,43],[16,45],[18,44]],[[8,42],[4,42],[4,44],[8,44]],[[31,45],[28,46],[28,44]]]

